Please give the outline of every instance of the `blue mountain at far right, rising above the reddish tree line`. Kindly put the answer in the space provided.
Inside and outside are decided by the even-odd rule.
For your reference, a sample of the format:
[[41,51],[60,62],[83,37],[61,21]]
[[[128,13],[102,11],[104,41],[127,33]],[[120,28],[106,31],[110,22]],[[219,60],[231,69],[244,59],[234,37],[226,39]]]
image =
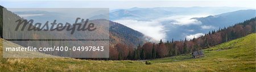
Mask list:
[[203,18],[192,18],[199,20],[202,24],[215,27],[232,26],[235,23],[243,22],[256,16],[256,10],[238,10],[218,15],[210,15]]

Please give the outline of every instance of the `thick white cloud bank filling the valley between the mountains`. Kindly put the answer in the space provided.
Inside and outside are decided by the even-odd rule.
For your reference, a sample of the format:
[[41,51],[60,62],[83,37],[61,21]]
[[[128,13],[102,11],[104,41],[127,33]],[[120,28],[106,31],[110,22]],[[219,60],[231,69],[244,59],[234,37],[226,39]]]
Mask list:
[[166,18],[158,18],[148,21],[134,20],[134,19],[118,19],[114,22],[124,24],[127,27],[133,28],[144,35],[152,37],[155,40],[165,40],[166,32],[171,30],[166,26],[188,26],[200,25],[201,22],[196,19],[191,19],[197,16],[170,16]]

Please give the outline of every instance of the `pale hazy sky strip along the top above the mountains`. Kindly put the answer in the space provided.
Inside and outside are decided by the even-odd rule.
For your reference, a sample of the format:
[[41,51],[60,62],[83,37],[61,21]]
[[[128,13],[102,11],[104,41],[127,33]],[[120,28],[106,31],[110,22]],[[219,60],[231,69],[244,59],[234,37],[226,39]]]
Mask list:
[[256,9],[255,0],[215,1],[2,1],[7,8],[109,8],[130,9],[132,7],[250,7]]

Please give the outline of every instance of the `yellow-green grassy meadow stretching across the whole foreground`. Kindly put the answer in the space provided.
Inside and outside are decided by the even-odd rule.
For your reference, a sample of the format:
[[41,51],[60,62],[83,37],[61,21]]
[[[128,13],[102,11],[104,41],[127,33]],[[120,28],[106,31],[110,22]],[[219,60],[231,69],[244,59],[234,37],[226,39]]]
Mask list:
[[[205,49],[205,57],[190,54],[142,61],[94,61],[72,58],[2,58],[0,71],[254,71],[256,34]],[[1,41],[3,41],[1,39]],[[2,44],[2,43],[1,43]],[[10,44],[11,45],[11,44]]]

